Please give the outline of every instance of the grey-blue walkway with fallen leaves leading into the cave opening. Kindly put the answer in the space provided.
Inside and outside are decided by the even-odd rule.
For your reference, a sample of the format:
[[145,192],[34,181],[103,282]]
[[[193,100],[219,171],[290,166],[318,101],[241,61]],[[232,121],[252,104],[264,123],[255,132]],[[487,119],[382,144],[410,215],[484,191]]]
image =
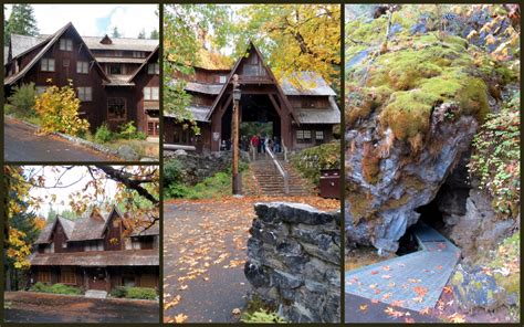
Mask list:
[[420,251],[347,272],[346,294],[413,312],[433,308],[460,250],[426,224],[418,224],[413,234]]

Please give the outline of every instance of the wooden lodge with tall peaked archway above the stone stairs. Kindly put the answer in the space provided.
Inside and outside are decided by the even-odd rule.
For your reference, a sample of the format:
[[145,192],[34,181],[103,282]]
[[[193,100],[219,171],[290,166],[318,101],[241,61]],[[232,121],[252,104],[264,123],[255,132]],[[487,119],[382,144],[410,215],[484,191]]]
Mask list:
[[252,43],[233,67],[193,67],[191,76],[174,78],[187,81],[186,92],[192,98],[188,109],[200,135],[195,136],[192,129],[184,127],[187,122],[165,112],[165,144],[175,145],[175,148],[189,146],[218,151],[221,141],[231,138],[234,74],[239,75],[241,91],[240,122],[272,124],[272,136],[282,140],[289,150],[331,141],[333,127],[340,124],[336,94],[319,75],[297,72],[293,83],[289,78],[279,83]]

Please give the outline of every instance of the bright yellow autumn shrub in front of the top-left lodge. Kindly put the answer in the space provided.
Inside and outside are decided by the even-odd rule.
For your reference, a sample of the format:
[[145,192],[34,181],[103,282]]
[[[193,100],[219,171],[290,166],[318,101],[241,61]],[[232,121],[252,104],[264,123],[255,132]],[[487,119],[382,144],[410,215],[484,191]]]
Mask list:
[[[48,82],[51,82],[48,80]],[[73,89],[73,84],[59,87],[52,85],[36,96],[34,110],[42,122],[43,131],[60,131],[80,135],[87,131],[90,123],[78,117],[80,99]]]

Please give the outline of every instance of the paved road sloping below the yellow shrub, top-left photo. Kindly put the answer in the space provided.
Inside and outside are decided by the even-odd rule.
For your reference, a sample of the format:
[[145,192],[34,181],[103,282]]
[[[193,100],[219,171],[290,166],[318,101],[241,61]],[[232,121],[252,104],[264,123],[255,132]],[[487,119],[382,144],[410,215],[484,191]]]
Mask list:
[[36,135],[27,124],[4,118],[3,143],[6,161],[119,161],[57,136]]

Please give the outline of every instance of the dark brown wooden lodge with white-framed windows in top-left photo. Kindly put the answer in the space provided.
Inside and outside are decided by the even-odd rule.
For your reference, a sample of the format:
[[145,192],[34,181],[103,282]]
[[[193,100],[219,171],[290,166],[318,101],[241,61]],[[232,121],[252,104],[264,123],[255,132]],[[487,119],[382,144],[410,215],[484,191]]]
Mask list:
[[150,137],[159,134],[158,40],[81,36],[72,23],[52,35],[11,34],[4,48],[6,97],[33,82],[38,92],[72,81],[81,117],[94,131],[133,120]]

